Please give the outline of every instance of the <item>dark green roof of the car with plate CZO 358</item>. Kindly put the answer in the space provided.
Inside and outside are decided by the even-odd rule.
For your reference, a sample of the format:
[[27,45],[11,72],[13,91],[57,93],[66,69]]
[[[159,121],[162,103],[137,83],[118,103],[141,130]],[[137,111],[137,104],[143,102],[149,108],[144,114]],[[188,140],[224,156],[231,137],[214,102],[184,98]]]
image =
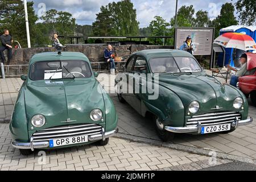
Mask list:
[[148,49],[135,52],[133,55],[143,56],[147,60],[155,57],[193,57],[193,55],[187,51],[180,51],[175,49]]

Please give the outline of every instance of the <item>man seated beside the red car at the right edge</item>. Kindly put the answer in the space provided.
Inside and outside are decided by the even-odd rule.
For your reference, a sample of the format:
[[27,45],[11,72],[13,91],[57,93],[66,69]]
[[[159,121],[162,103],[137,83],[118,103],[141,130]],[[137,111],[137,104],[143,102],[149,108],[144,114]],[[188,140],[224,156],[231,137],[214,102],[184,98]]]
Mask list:
[[233,75],[230,79],[230,85],[237,86],[238,78],[242,76],[247,76],[254,74],[256,69],[247,70],[247,55],[246,53],[243,53],[240,57],[240,63],[242,64],[242,67],[238,70],[235,68],[232,68],[230,65],[227,66],[230,70],[236,72],[236,75]]

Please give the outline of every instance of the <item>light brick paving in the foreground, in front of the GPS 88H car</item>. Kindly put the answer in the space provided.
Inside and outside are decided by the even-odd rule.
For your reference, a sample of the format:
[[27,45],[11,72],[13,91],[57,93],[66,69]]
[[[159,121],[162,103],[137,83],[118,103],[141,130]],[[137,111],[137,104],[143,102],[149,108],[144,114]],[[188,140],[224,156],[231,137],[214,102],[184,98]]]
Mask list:
[[[30,156],[20,155],[17,148],[11,146],[9,125],[0,124],[0,170],[197,170],[219,164],[230,163],[230,160],[217,159],[213,165],[209,157],[156,147],[150,144],[129,142],[123,139],[110,138],[108,145],[97,144],[46,151],[46,158],[39,151]],[[42,160],[43,159],[43,160]],[[211,161],[211,160],[210,160]],[[42,163],[44,162],[44,163]],[[184,165],[187,164],[187,165]],[[172,168],[175,167],[175,168]]]

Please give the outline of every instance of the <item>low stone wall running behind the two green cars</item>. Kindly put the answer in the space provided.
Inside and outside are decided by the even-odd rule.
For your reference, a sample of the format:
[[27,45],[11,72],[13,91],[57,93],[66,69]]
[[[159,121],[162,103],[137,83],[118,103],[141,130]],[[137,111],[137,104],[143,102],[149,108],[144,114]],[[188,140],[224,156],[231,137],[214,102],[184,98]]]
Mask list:
[[[81,52],[84,53],[90,61],[101,62],[104,61],[104,49],[106,46],[98,45],[81,45],[81,46],[67,46],[67,51],[71,52]],[[126,45],[126,46],[114,46],[115,52],[118,56],[127,59],[131,53],[142,51],[145,49],[162,49],[162,48],[172,48],[170,46],[144,46],[144,45]],[[35,53],[41,52],[53,52],[55,51],[52,47],[44,48],[22,48],[13,49],[13,59],[7,61],[6,64],[9,65],[24,65],[28,64],[28,61]],[[6,53],[6,52],[5,52]]]

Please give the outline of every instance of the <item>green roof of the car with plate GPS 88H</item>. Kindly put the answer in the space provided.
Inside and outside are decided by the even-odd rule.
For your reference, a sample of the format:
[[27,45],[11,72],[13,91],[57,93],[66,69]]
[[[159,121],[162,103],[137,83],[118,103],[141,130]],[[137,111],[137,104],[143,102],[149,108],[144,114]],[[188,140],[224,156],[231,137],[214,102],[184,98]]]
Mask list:
[[88,57],[80,52],[61,52],[59,55],[57,52],[43,52],[36,53],[31,57],[30,64],[39,61],[57,61],[57,60],[83,60],[89,63]]

